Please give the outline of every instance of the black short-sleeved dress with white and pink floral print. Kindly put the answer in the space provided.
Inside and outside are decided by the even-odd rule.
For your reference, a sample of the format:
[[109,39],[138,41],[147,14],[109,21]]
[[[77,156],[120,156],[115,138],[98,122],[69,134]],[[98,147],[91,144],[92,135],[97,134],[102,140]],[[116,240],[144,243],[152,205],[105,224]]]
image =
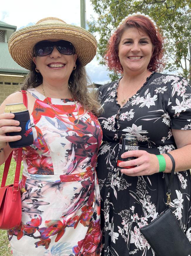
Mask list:
[[[130,177],[116,171],[119,138],[135,135],[139,149],[151,154],[176,149],[171,129],[191,129],[191,87],[180,76],[154,72],[121,108],[116,101],[118,82],[99,88],[104,109],[98,118],[103,143],[96,167],[101,194],[101,255],[154,256],[140,228],[166,208],[164,173]],[[175,173],[171,209],[191,241],[190,185],[189,170]]]

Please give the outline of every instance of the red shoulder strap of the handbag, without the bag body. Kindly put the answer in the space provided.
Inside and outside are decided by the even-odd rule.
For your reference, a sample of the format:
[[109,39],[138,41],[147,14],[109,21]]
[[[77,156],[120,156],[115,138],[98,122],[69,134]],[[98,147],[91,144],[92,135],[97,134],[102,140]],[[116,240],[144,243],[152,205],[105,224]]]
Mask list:
[[[23,103],[27,108],[27,95],[25,90],[21,90],[23,94]],[[5,166],[4,166],[4,172],[3,172],[3,177],[2,177],[2,182],[1,182],[1,187],[4,187],[6,184],[6,179],[7,175],[9,172],[9,167],[11,164],[11,158],[12,158],[13,151],[11,154],[8,156],[7,160],[5,161]],[[14,188],[15,190],[18,189],[19,187],[19,176],[20,176],[20,171],[21,171],[21,159],[22,159],[22,148],[19,148],[18,150],[18,157],[17,157],[17,162],[16,162],[16,171],[15,171],[15,179],[14,179]]]

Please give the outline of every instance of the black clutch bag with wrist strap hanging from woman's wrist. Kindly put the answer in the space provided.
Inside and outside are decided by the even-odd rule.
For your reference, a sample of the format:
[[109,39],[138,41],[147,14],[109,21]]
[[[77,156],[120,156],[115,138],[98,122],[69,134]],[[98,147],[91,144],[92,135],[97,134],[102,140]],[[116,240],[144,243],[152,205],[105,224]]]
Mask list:
[[188,256],[191,255],[191,243],[170,210],[170,186],[174,176],[175,161],[169,153],[166,154],[172,160],[172,172],[169,182],[167,175],[165,175],[165,180],[168,184],[167,209],[150,224],[142,227],[140,232],[147,239],[157,256]]

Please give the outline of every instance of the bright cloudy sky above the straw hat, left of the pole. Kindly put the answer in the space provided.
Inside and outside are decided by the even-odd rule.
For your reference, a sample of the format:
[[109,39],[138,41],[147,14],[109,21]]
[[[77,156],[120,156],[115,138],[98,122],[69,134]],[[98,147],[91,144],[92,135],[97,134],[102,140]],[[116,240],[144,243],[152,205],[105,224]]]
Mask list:
[[45,17],[58,17],[67,23],[80,25],[80,1],[33,0],[32,4],[26,0],[1,1],[0,20],[17,28]]

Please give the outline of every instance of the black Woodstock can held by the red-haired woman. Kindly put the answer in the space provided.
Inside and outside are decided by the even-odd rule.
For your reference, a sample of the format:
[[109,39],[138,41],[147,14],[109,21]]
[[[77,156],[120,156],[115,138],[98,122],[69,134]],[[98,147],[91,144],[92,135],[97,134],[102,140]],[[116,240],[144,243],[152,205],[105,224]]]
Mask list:
[[119,163],[136,159],[137,158],[136,156],[121,158],[121,155],[124,152],[130,151],[130,150],[138,150],[138,149],[139,149],[138,139],[135,135],[122,134],[119,140],[119,152],[118,152],[118,160],[117,160],[118,169],[129,169],[129,168],[135,167],[135,166],[120,167]]

